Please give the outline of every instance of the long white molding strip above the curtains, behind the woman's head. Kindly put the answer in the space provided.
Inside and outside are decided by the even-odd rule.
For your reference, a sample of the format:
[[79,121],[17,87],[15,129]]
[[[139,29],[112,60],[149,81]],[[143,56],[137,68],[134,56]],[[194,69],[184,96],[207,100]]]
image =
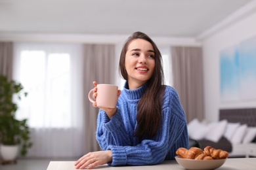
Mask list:
[[[64,43],[95,43],[119,44],[129,35],[83,35],[53,33],[0,33],[0,41],[12,42],[64,42]],[[151,37],[158,45],[201,46],[193,37]]]

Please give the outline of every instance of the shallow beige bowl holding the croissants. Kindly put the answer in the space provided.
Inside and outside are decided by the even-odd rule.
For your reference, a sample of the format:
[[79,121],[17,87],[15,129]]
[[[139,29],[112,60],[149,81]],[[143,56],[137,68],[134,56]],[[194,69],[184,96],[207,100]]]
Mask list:
[[184,159],[180,158],[179,156],[175,156],[175,160],[184,168],[186,169],[217,169],[218,167],[221,167],[225,159],[220,160],[190,160],[190,159]]

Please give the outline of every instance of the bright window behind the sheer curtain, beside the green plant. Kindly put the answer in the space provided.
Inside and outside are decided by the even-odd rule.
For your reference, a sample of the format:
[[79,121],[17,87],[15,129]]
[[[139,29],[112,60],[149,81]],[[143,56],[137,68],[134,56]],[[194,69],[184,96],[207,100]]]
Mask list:
[[72,50],[68,48],[75,46],[21,46],[15,73],[28,97],[19,102],[17,118],[29,118],[30,127],[72,127]]

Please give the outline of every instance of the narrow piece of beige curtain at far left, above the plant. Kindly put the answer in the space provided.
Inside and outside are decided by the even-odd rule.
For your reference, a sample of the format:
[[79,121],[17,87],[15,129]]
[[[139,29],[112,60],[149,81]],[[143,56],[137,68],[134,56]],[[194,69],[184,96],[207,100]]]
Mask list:
[[12,42],[0,42],[0,75],[7,76],[9,80],[12,80],[12,60]]

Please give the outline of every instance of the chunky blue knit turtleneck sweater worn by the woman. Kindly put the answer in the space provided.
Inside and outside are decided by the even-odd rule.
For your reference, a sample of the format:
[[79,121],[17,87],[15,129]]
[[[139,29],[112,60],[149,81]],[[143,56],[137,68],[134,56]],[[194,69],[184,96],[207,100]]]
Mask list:
[[96,139],[102,150],[112,150],[112,166],[153,165],[173,160],[179,147],[188,148],[186,116],[174,88],[165,86],[161,125],[155,137],[134,137],[137,126],[137,104],[146,84],[136,90],[127,89],[127,82],[117,101],[117,112],[108,118],[100,109]]

